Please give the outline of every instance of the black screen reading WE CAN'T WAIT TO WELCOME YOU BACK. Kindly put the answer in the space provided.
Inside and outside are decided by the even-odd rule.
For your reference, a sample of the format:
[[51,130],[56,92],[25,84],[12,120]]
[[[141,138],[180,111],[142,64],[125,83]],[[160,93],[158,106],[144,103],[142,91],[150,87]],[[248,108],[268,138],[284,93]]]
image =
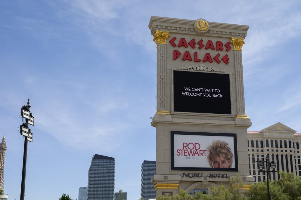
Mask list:
[[231,115],[230,74],[173,70],[173,111]]

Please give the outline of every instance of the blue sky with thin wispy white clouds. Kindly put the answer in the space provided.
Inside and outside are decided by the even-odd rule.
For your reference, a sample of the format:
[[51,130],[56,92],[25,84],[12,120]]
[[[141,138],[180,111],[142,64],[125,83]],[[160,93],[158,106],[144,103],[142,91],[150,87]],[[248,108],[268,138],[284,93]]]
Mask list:
[[0,2],[0,128],[5,193],[20,198],[20,107],[35,117],[25,199],[78,198],[92,155],[116,160],[115,191],[140,198],[141,164],[155,160],[156,44],[151,16],[249,25],[246,114],[260,131],[301,132],[300,1]]

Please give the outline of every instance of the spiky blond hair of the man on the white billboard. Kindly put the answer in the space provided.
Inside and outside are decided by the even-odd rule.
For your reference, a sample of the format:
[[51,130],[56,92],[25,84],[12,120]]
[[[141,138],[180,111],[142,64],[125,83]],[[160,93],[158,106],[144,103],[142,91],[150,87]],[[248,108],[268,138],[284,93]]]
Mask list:
[[223,157],[229,161],[231,168],[233,163],[233,153],[228,143],[221,140],[213,140],[212,144],[207,146],[207,161],[213,168],[213,157]]

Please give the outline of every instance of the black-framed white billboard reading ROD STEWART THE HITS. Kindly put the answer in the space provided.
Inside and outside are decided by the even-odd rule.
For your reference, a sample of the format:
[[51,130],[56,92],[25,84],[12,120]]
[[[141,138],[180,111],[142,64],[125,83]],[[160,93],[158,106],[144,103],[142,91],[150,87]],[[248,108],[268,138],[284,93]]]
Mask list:
[[171,170],[238,171],[236,134],[171,131]]

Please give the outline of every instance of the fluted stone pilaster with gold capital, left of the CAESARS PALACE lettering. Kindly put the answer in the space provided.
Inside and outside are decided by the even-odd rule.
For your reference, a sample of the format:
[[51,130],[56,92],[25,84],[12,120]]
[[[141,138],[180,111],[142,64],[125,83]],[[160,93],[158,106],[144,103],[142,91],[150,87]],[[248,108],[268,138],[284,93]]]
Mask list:
[[[155,31],[154,42],[157,44],[157,113],[169,115],[167,111],[167,60],[166,40],[169,31]],[[164,112],[165,111],[165,112]]]

